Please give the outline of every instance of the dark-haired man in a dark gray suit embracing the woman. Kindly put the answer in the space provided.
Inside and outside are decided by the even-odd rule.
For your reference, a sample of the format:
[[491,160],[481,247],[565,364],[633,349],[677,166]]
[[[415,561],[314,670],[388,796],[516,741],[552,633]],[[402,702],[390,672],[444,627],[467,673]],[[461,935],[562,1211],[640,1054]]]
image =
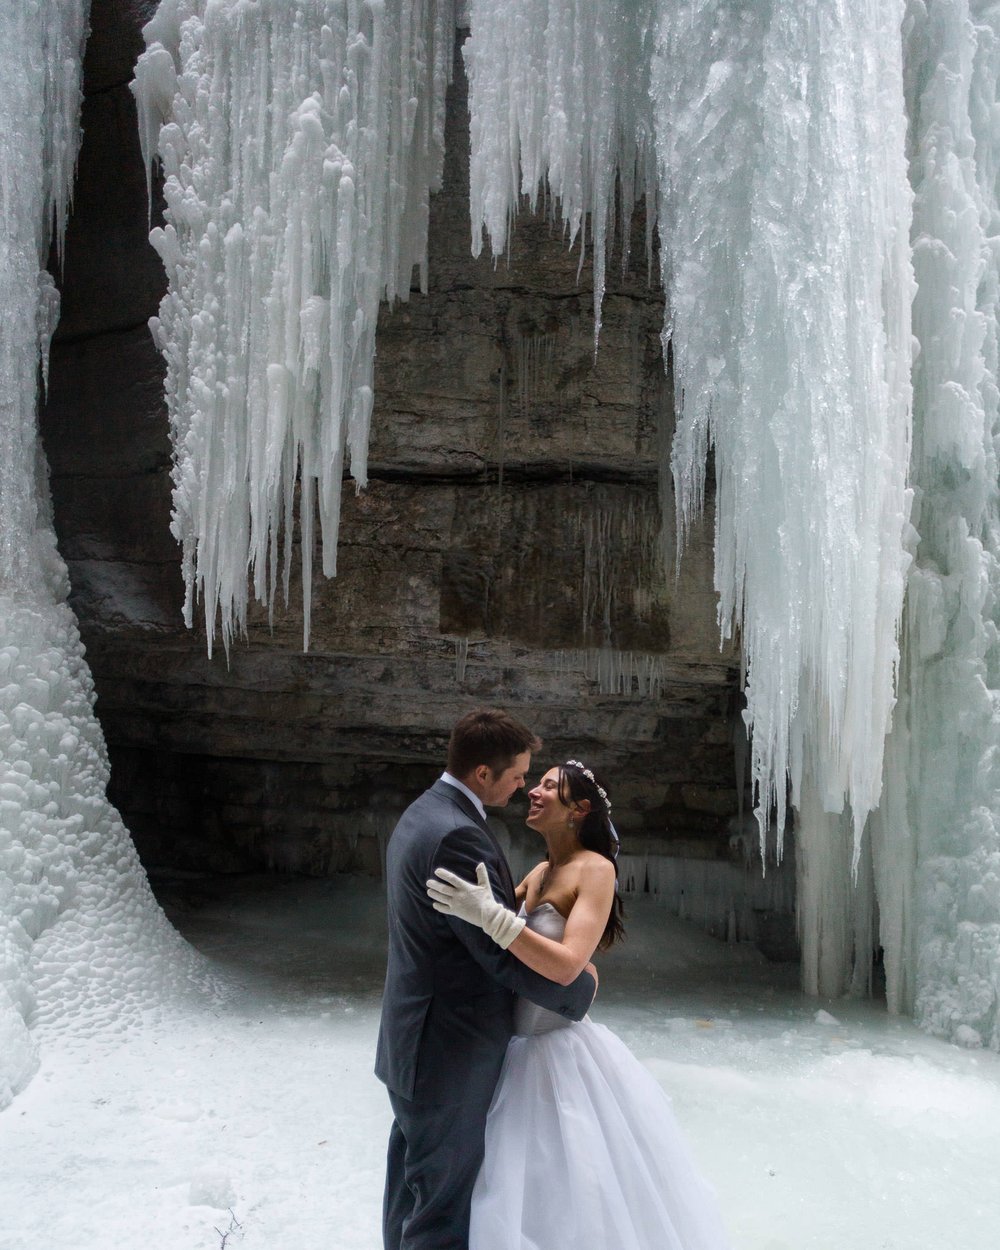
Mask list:
[[426,894],[435,868],[475,880],[515,906],[514,881],[485,806],[524,786],[538,738],[506,712],[469,712],[455,725],[448,770],[404,811],[389,840],[389,966],[375,1074],[389,1086],[385,1250],[468,1250],[472,1184],[514,1021],[514,995],[571,1020],[596,984],[546,981],[474,925],[439,914]]

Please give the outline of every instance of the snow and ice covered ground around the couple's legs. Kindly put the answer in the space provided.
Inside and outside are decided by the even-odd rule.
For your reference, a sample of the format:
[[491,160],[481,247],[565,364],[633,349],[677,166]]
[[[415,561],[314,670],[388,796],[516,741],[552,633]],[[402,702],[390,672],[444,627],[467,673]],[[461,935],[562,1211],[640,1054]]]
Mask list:
[[[1000,1056],[871,1004],[818,1014],[794,970],[629,918],[594,1015],[672,1096],[736,1250],[1000,1244]],[[0,1115],[0,1246],[378,1250],[380,888],[245,879],[174,919],[215,992],[46,1026]]]

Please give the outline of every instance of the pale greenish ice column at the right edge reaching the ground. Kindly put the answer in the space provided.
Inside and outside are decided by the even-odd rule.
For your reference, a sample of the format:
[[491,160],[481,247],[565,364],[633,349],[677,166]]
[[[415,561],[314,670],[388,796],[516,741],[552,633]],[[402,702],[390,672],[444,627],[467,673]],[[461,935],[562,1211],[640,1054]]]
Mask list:
[[881,936],[890,1001],[1000,1049],[1000,14],[911,4],[905,34],[919,544],[874,821]]

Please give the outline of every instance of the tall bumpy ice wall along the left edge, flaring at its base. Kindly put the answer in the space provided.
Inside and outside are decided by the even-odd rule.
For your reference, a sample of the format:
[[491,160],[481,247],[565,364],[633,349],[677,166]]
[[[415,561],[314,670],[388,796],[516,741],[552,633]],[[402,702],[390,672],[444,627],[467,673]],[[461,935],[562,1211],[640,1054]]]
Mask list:
[[105,796],[38,440],[88,9],[0,0],[0,1108],[34,1071],[35,1026],[121,1026],[190,968]]

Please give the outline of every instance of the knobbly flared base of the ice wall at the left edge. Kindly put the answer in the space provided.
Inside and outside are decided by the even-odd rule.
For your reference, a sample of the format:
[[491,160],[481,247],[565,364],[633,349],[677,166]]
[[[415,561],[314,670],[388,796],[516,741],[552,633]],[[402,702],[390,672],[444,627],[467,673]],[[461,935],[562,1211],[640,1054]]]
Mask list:
[[[94,686],[66,604],[0,595],[0,975],[35,1035],[120,1030],[162,996],[211,979],[168,922],[108,802]],[[31,1055],[16,1042],[4,1061]]]

